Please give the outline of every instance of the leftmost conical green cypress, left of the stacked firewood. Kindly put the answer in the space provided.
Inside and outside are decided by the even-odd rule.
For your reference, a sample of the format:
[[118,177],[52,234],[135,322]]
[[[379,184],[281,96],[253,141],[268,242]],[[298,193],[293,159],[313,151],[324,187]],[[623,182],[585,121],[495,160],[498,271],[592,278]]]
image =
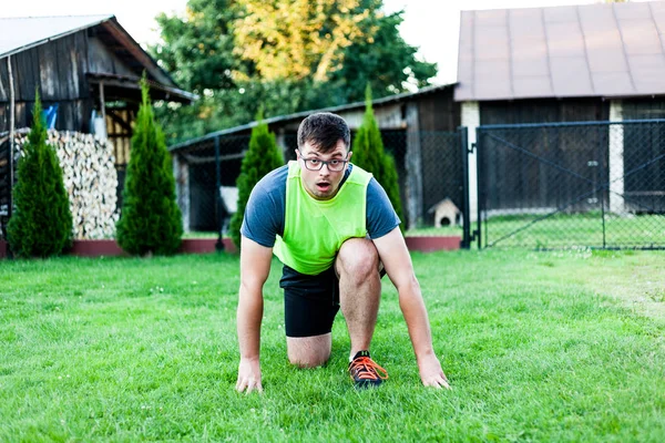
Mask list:
[[19,158],[13,188],[8,240],[18,257],[50,257],[71,246],[72,214],[55,147],[47,144],[39,91],[35,91],[33,123],[23,156]]

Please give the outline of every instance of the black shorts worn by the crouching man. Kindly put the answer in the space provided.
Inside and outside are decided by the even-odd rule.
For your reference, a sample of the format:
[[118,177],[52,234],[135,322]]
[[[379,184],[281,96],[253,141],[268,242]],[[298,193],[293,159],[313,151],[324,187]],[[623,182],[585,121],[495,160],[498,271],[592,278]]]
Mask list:
[[332,330],[339,311],[335,266],[308,276],[284,265],[279,287],[284,289],[286,337],[321,336]]

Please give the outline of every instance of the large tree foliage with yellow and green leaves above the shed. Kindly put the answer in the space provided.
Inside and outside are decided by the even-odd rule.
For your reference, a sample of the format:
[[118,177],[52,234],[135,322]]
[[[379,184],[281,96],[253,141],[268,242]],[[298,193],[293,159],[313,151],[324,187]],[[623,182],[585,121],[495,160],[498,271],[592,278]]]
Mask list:
[[[170,144],[253,120],[423,86],[436,75],[417,60],[382,0],[190,0],[184,17],[161,14],[150,49],[193,106],[156,106]],[[411,85],[411,86],[410,86]]]

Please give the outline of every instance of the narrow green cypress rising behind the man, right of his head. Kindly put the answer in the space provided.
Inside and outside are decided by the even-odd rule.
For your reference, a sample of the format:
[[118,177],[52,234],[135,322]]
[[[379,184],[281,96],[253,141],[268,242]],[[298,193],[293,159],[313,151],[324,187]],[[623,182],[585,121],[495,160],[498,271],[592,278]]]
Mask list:
[[[399,196],[399,182],[395,158],[383,150],[381,131],[374,115],[371,106],[371,90],[369,84],[366,90],[365,116],[352,143],[352,163],[370,172],[388,194],[395,212],[402,218],[401,198]],[[400,226],[403,226],[400,225]]]

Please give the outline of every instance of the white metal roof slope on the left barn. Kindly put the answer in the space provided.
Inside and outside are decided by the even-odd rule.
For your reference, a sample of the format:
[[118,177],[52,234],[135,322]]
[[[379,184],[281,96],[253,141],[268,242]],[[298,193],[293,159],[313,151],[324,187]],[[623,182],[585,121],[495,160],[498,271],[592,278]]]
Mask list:
[[0,59],[112,18],[112,14],[0,18]]

